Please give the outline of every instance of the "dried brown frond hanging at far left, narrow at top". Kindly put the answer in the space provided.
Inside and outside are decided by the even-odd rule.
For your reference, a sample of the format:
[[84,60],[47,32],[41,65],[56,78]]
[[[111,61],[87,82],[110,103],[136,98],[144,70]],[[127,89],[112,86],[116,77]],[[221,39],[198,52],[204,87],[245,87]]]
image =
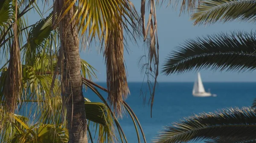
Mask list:
[[17,0],[15,2],[15,23],[13,25],[14,40],[10,49],[10,60],[7,70],[7,79],[3,89],[3,95],[6,100],[6,107],[10,112],[14,112],[17,107],[17,98],[20,96],[21,87],[21,62],[20,62],[20,47],[18,41],[17,30]]

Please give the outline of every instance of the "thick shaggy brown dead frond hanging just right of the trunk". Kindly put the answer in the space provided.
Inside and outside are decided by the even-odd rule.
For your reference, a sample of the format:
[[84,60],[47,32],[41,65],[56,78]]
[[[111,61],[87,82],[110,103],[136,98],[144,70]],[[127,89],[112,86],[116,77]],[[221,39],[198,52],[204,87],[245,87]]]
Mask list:
[[107,66],[107,87],[108,100],[113,107],[113,111],[122,117],[122,101],[130,93],[124,64],[124,43],[123,29],[121,23],[119,28],[109,31],[108,39],[105,43],[105,62]]

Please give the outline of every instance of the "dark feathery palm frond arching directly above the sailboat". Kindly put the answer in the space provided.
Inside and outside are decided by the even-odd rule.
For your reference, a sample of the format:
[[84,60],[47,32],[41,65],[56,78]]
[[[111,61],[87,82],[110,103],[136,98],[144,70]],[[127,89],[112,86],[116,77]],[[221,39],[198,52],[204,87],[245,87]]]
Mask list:
[[163,64],[166,75],[198,69],[254,70],[256,34],[234,32],[187,40]]

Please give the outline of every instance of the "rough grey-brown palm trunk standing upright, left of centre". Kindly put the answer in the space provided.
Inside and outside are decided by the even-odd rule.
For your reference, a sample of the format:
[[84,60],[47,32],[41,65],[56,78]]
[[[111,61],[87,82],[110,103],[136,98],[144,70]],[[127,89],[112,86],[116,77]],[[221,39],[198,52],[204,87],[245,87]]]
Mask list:
[[[64,3],[65,0],[60,1]],[[67,6],[69,6],[69,3],[66,5],[66,8]],[[67,12],[59,23],[61,50],[64,56],[61,76],[64,97],[66,99],[69,143],[87,143],[87,123],[82,94],[79,38],[75,22],[70,24],[73,15],[74,7]]]

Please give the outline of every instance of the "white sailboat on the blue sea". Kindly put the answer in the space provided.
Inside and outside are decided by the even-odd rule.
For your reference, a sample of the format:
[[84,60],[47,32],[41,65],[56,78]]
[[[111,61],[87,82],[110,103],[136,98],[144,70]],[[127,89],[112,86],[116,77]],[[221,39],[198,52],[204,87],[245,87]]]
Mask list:
[[195,83],[194,83],[194,87],[193,87],[193,90],[192,90],[192,95],[195,96],[195,97],[209,97],[209,96],[212,95],[209,92],[205,92],[204,85],[203,85],[201,75],[200,75],[199,72],[198,72],[198,77],[197,77],[197,79],[195,80]]

